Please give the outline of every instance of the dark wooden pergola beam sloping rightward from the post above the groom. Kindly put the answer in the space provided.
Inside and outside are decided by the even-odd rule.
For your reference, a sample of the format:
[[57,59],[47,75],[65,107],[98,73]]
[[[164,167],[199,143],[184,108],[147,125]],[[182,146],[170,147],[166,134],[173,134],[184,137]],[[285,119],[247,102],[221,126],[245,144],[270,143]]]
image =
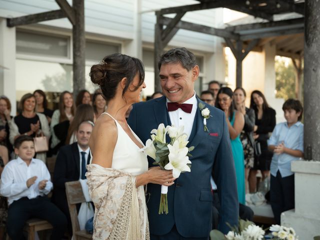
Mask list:
[[[162,16],[159,18],[159,23],[163,25],[167,25],[170,23],[172,18]],[[220,37],[227,37],[227,38],[232,38],[232,39],[239,39],[239,35],[232,33],[231,31],[224,30],[224,29],[219,29],[219,28],[214,28],[210,26],[205,26],[201,24],[196,24],[188,21],[179,21],[175,27],[180,28],[180,29],[186,29],[190,31],[197,31],[197,32],[202,32],[210,35],[215,35],[215,36],[220,36]]]

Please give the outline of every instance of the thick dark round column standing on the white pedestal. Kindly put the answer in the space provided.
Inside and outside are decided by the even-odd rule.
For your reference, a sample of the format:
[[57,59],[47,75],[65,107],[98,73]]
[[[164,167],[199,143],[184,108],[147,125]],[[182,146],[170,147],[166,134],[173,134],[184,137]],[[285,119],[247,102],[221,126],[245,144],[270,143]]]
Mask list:
[[304,154],[320,160],[320,1],[304,2]]

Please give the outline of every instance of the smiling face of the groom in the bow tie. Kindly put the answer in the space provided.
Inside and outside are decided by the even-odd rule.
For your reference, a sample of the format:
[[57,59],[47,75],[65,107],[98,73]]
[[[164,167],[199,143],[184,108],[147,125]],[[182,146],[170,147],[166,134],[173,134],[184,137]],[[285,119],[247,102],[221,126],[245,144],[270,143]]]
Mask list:
[[194,94],[194,81],[198,75],[198,66],[188,71],[180,63],[162,64],[159,76],[163,94],[172,102],[186,101]]

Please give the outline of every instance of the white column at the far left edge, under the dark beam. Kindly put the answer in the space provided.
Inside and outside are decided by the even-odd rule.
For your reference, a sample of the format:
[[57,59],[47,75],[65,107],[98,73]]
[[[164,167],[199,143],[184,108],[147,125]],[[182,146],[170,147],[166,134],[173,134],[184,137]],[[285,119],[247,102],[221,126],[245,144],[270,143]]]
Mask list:
[[[27,72],[25,74],[28,74]],[[6,26],[6,18],[0,17],[0,94],[11,102],[11,114],[15,104],[15,27]]]

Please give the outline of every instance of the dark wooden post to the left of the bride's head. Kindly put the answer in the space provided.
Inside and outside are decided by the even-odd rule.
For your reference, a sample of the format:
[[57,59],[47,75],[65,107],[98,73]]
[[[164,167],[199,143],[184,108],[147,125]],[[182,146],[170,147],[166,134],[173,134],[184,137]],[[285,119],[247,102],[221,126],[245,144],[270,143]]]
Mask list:
[[75,24],[72,27],[73,43],[73,99],[85,88],[85,37],[84,37],[84,0],[72,0]]

